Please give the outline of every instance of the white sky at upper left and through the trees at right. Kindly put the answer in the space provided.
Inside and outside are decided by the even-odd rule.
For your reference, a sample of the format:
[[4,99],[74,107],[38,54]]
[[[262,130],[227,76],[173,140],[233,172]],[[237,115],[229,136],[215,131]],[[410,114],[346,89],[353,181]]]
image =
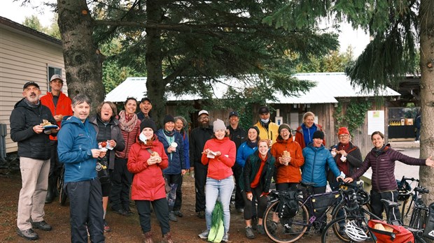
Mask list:
[[[48,27],[54,14],[50,8],[43,6],[42,3],[47,1],[56,2],[56,0],[31,0],[31,4],[28,6],[21,6],[22,0],[1,0],[0,16],[22,24],[25,17],[36,15],[43,27]],[[33,8],[35,6],[36,8]],[[369,36],[362,30],[353,30],[349,24],[342,24],[339,43],[339,52],[346,52],[346,48],[351,45],[354,49],[354,55],[357,57],[369,43]]]

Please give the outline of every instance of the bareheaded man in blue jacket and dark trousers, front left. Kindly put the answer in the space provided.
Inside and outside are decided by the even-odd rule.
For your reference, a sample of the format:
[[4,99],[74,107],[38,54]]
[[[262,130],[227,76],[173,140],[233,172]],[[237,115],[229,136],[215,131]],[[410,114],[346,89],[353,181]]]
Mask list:
[[59,161],[64,163],[64,189],[71,208],[71,242],[104,242],[101,183],[97,177],[97,158],[106,152],[98,149],[97,133],[87,117],[90,98],[78,94],[72,99],[73,116],[64,117],[57,135]]

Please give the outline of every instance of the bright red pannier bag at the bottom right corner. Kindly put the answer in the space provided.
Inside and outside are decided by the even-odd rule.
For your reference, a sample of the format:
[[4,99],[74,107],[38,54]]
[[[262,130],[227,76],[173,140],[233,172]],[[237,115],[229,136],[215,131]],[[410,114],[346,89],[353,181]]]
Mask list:
[[379,243],[414,243],[412,232],[404,228],[404,226],[393,226],[381,220],[370,219],[367,222],[367,227],[377,237]]

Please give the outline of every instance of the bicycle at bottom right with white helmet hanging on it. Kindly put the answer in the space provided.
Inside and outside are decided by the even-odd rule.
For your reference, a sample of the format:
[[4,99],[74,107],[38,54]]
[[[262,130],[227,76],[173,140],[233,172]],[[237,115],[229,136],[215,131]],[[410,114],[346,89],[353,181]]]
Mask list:
[[[376,237],[368,227],[368,221],[369,219],[377,219],[379,221],[382,219],[363,207],[360,207],[360,202],[357,200],[356,193],[353,193],[352,199],[353,203],[350,205],[351,207],[346,206],[346,215],[333,219],[327,224],[327,226],[325,226],[321,234],[321,242],[375,242],[374,239],[376,239]],[[391,210],[400,206],[399,202],[391,202],[384,199],[381,199],[381,202],[384,203],[384,207],[386,208],[387,219],[389,219]],[[345,222],[345,235],[337,233],[337,228],[342,226],[342,221]],[[399,219],[388,220],[387,223],[393,226],[403,226]],[[422,237],[423,229],[412,228],[409,226],[403,227],[412,233],[416,242],[425,243],[425,240],[423,240]]]

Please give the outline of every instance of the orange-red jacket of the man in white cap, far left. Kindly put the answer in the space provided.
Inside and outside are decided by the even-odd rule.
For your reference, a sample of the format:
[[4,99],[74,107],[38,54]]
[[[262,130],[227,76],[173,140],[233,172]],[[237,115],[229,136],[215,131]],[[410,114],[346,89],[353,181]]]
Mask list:
[[[71,116],[73,115],[71,108],[71,99],[63,94],[61,91],[59,94],[59,100],[57,101],[57,105],[55,106],[52,102],[52,94],[51,92],[47,92],[45,96],[41,97],[41,104],[45,105],[50,109],[52,116],[55,115],[63,115],[63,116]],[[57,121],[57,126],[60,127],[62,121]],[[57,137],[50,135],[50,140],[57,140]]]

